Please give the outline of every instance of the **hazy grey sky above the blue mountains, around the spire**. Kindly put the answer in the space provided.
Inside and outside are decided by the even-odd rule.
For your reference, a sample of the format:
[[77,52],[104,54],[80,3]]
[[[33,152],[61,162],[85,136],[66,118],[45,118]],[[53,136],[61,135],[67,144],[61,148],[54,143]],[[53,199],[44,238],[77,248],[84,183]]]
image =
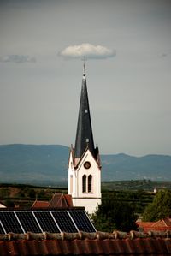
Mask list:
[[170,0],[0,0],[0,144],[74,144],[78,52],[100,152],[171,155]]

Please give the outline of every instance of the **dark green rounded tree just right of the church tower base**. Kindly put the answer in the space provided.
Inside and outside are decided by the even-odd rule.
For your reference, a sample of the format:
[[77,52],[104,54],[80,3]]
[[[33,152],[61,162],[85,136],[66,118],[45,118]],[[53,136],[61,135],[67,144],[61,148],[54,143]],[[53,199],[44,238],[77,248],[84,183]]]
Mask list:
[[99,205],[91,218],[96,229],[103,232],[113,232],[115,229],[128,232],[136,229],[137,216],[133,205],[111,196],[103,199],[102,205]]

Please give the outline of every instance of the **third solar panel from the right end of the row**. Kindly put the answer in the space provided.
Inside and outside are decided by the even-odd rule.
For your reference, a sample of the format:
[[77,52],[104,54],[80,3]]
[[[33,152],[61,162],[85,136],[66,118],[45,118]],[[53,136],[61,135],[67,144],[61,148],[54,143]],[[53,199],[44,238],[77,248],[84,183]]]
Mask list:
[[34,215],[44,232],[60,233],[50,211],[34,211]]

